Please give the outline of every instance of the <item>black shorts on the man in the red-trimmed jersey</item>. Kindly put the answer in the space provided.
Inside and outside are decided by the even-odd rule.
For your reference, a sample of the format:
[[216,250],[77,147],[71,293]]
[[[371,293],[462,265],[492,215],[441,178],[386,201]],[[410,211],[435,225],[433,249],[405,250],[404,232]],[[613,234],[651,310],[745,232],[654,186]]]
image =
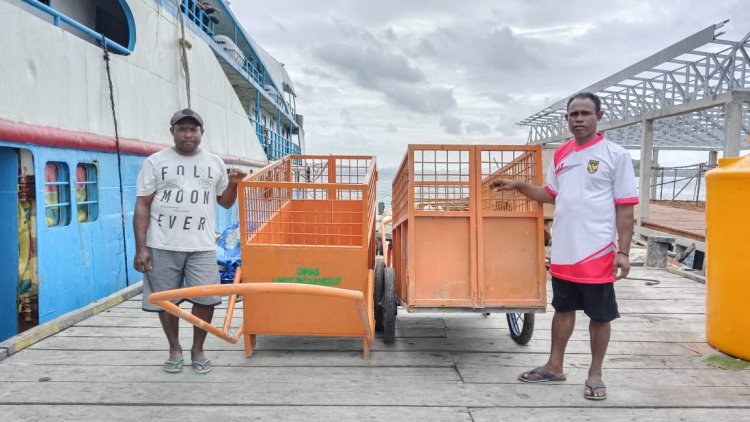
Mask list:
[[573,283],[553,276],[552,307],[558,312],[582,310],[595,322],[610,322],[620,317],[615,283]]

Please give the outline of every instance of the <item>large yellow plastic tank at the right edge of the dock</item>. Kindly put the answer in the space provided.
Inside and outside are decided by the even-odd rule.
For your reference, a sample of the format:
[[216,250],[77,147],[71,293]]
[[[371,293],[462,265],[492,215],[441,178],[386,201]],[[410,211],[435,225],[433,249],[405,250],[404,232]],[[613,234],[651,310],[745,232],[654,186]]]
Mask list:
[[706,338],[750,360],[750,155],[722,158],[706,174]]

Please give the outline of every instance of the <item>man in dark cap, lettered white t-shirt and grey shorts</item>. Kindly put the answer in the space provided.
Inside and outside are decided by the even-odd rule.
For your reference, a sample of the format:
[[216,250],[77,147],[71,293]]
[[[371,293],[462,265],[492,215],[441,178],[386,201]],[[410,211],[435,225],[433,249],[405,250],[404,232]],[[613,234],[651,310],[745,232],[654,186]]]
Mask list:
[[[177,111],[170,126],[174,146],[146,158],[138,174],[133,264],[143,273],[143,310],[159,312],[169,342],[164,371],[178,373],[183,367],[179,319],[149,303],[148,296],[152,292],[219,283],[214,242],[216,204],[232,207],[237,199],[237,183],[245,173],[227,171],[219,156],[198,147],[204,129],[203,118],[195,111]],[[214,306],[221,303],[221,298],[190,301],[193,315],[210,323]],[[206,331],[195,327],[190,357],[198,374],[213,369],[203,351],[205,339]]]

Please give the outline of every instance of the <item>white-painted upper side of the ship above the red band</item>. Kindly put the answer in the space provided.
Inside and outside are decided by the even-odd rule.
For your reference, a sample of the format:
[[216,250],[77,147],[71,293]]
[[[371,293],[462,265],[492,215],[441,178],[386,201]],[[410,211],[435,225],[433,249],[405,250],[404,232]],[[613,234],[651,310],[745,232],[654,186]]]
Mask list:
[[[169,117],[188,105],[180,59],[180,21],[156,0],[128,1],[135,21],[133,53],[110,53],[119,135],[171,144]],[[19,0],[0,1],[4,37],[0,118],[114,136],[103,51]],[[254,125],[208,43],[185,31],[191,106],[205,120],[203,147],[266,162]]]

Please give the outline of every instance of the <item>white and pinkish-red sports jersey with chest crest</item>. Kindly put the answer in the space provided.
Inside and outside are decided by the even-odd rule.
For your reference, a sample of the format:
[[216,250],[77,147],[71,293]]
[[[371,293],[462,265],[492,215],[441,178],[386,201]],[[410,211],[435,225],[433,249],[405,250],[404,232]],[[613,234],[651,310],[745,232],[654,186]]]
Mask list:
[[597,135],[558,148],[544,186],[555,198],[549,272],[577,283],[615,281],[615,205],[638,203],[630,154]]

